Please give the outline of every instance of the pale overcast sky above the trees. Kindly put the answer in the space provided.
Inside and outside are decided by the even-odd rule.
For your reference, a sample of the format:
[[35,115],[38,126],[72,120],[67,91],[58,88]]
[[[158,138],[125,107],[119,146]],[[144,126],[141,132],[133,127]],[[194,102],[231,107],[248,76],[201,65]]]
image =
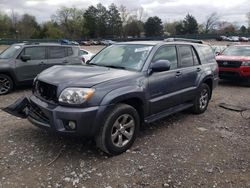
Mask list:
[[148,16],[159,16],[163,22],[177,21],[190,13],[203,23],[209,14],[217,12],[220,20],[246,25],[246,13],[250,11],[249,0],[0,0],[0,10],[29,13],[41,23],[49,20],[61,6],[86,9],[97,3],[106,7],[111,3],[123,4],[128,10],[143,7]]

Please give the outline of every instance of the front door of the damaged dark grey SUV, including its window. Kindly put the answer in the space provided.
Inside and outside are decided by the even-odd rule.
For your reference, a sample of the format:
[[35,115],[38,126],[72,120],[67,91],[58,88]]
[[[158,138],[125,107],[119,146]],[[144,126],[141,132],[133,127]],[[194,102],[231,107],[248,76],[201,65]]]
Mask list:
[[157,60],[168,60],[171,67],[169,71],[154,72],[148,78],[151,114],[156,114],[180,104],[178,96],[180,78],[175,45],[160,47],[155,53],[152,63]]

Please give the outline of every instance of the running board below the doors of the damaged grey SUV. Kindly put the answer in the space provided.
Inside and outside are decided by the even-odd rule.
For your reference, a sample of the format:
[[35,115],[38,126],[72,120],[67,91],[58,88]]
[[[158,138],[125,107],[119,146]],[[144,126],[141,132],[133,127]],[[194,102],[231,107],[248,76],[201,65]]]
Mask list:
[[175,113],[180,112],[182,110],[188,109],[192,106],[193,106],[193,103],[185,103],[185,104],[171,107],[171,108],[164,110],[160,113],[157,113],[157,114],[154,114],[154,115],[151,115],[151,116],[145,118],[145,123],[152,123],[156,120],[159,120],[159,119],[164,118],[166,116],[169,116],[171,114],[175,114]]

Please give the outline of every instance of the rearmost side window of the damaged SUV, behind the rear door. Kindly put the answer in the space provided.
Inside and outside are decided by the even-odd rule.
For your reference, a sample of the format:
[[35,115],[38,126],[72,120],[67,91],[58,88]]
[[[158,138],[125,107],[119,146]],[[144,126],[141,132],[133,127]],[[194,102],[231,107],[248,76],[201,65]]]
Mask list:
[[215,62],[215,55],[210,46],[197,46],[196,50],[200,55],[201,64]]

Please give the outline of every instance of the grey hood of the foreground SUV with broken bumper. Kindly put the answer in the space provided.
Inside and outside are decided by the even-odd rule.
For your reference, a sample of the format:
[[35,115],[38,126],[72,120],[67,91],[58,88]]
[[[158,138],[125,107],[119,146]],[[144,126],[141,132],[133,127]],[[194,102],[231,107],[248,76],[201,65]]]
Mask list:
[[92,87],[135,74],[138,73],[98,66],[53,66],[40,73],[38,79],[53,85],[65,85],[65,87]]

